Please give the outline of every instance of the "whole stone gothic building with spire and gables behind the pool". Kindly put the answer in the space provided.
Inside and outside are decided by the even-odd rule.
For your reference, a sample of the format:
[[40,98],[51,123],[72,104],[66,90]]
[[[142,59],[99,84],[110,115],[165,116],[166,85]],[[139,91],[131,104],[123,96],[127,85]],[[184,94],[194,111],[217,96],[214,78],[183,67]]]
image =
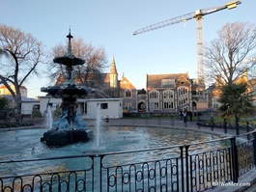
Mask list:
[[109,97],[123,98],[125,112],[202,111],[208,108],[207,98],[200,90],[198,80],[190,79],[188,73],[147,74],[146,90],[136,90],[124,74],[118,80],[113,58],[110,72],[101,73],[101,78],[102,82],[96,89]]

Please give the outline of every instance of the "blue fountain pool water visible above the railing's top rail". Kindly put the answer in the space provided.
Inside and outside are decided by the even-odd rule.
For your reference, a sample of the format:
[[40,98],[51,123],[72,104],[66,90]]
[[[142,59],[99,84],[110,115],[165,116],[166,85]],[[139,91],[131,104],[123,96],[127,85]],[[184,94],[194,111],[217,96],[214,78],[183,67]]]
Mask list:
[[[97,127],[90,127],[94,134]],[[101,126],[100,138],[88,143],[78,143],[60,149],[48,149],[39,138],[45,128],[1,131],[0,160],[44,158],[83,153],[103,153],[112,151],[136,151],[184,145],[220,138],[214,134],[185,129],[146,126]],[[95,138],[96,135],[94,135]],[[216,147],[215,144],[213,146]],[[211,144],[202,146],[212,149]]]

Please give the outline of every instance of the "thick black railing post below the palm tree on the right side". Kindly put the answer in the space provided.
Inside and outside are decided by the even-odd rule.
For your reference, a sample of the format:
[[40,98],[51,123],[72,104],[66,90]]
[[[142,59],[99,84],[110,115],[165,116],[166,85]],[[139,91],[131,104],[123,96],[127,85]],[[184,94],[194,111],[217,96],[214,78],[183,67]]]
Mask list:
[[230,138],[231,155],[232,155],[232,180],[237,183],[239,181],[239,156],[238,147],[236,145],[236,137]]

